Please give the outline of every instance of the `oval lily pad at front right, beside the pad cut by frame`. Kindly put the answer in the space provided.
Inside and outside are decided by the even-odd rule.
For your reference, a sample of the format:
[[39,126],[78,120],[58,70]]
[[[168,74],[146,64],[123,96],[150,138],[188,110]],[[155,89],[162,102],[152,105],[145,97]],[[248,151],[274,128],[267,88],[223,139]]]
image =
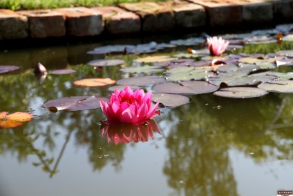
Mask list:
[[255,87],[231,87],[220,89],[214,95],[226,98],[255,98],[264,96],[267,91]]

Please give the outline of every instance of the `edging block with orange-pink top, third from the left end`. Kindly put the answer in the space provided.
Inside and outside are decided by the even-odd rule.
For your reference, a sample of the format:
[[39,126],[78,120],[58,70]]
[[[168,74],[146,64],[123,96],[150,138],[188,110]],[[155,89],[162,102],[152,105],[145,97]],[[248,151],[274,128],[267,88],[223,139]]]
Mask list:
[[100,35],[104,30],[102,13],[84,7],[54,9],[66,17],[68,35]]

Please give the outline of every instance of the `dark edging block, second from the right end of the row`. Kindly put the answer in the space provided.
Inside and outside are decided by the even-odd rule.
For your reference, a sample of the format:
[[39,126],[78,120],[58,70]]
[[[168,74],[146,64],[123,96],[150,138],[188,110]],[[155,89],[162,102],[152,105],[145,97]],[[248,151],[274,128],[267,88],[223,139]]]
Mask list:
[[273,19],[272,3],[249,3],[242,6],[245,24],[269,23]]

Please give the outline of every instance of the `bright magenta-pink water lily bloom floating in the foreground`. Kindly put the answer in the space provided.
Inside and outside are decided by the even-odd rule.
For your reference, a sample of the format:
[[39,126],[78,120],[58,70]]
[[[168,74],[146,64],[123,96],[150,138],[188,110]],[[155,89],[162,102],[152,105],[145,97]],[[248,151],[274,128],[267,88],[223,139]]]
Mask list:
[[159,103],[151,107],[151,92],[144,93],[143,89],[134,92],[130,87],[111,93],[110,102],[100,100],[102,111],[108,121],[139,125],[160,114],[157,111]]

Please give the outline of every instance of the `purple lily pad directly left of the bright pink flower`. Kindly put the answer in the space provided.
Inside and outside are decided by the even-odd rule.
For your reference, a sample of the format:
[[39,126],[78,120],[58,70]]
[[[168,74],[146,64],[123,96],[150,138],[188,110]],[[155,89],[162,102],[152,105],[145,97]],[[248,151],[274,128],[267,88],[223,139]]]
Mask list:
[[100,100],[108,101],[107,98],[97,96],[71,96],[49,100],[44,103],[44,107],[48,108],[51,112],[95,109],[100,107]]

